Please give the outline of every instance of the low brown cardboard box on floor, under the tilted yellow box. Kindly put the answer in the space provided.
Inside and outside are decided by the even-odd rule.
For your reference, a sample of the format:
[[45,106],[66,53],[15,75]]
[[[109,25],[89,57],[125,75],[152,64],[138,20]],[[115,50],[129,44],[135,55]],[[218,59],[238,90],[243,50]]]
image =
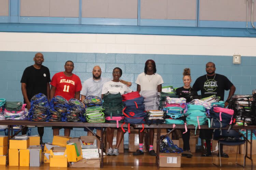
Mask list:
[[78,162],[69,162],[70,168],[100,168],[100,157],[81,159]]

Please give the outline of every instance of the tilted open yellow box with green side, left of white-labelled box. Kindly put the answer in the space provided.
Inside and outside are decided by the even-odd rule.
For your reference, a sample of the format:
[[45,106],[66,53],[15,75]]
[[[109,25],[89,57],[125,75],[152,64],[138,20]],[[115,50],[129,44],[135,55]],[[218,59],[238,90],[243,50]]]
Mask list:
[[77,162],[83,158],[81,143],[79,141],[69,143],[67,146],[68,162]]

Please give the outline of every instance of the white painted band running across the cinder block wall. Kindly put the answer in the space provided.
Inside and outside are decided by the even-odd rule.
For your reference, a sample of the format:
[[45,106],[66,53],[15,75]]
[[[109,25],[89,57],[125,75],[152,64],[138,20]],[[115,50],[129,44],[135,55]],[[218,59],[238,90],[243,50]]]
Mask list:
[[256,38],[0,32],[0,51],[255,56]]

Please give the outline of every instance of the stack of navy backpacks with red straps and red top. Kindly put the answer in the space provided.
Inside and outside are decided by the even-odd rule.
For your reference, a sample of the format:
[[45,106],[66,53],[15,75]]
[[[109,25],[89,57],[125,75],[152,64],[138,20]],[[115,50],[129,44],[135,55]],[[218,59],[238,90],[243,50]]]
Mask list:
[[[123,114],[124,123],[128,123],[128,132],[130,133],[130,124],[144,124],[147,114],[145,113],[144,98],[140,96],[139,92],[134,91],[122,95],[123,98]],[[157,106],[158,107],[158,106]],[[123,129],[122,130],[125,132]],[[141,130],[141,132],[144,128]]]

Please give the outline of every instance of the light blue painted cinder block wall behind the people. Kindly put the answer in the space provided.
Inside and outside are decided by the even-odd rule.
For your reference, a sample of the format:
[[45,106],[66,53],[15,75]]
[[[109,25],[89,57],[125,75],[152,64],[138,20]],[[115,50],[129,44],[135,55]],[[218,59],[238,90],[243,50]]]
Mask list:
[[[8,101],[23,101],[20,79],[26,67],[34,64],[33,56],[36,52],[11,52],[0,51],[0,98]],[[251,94],[256,87],[256,57],[242,57],[241,64],[232,64],[232,56],[211,55],[159,55],[159,54],[102,54],[102,53],[63,53],[43,52],[44,63],[51,72],[51,77],[64,71],[67,60],[74,62],[74,73],[81,81],[92,76],[92,69],[99,65],[102,69],[102,77],[112,78],[114,67],[123,70],[122,79],[133,83],[132,90],[136,90],[134,83],[139,73],[144,70],[144,63],[148,59],[156,62],[157,73],[165,82],[163,86],[183,85],[183,69],[191,69],[193,82],[205,74],[205,64],[212,61],[216,65],[216,73],[224,74],[236,86],[236,94]],[[193,84],[192,82],[192,84]],[[226,91],[225,97],[228,96]],[[226,98],[225,98],[226,100]],[[37,134],[37,128],[32,128],[32,135]],[[60,132],[63,134],[63,130]],[[75,128],[71,136],[81,136],[86,133],[83,128]],[[52,141],[51,127],[45,127],[43,142]],[[128,138],[125,137],[125,144]]]

